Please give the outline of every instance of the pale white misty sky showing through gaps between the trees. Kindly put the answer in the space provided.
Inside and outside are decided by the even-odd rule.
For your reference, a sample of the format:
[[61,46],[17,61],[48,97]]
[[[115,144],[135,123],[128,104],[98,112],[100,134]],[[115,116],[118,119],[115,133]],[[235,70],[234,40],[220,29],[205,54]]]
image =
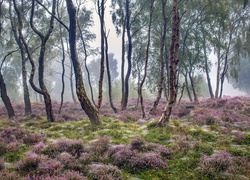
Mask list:
[[[110,53],[114,53],[114,57],[118,60],[118,68],[120,72],[121,70],[121,36],[117,36],[116,31],[115,31],[115,27],[112,23],[112,19],[111,19],[111,15],[110,15],[110,4],[111,4],[111,0],[108,0],[106,3],[106,11],[105,11],[105,24],[106,24],[106,29],[109,32],[109,37],[108,37],[108,44],[109,44],[109,52]],[[100,43],[101,43],[101,37],[100,37],[100,23],[99,23],[99,17],[96,13],[96,10],[94,8],[94,3],[92,2],[88,2],[86,4],[88,6],[88,8],[93,10],[93,20],[94,20],[94,26],[93,26],[93,32],[96,34],[96,40],[93,42],[93,46],[94,47],[100,47]],[[209,59],[212,61],[213,63],[213,67],[211,68],[211,72],[210,72],[210,78],[211,78],[211,82],[212,82],[212,87],[213,87],[213,91],[215,91],[215,87],[216,87],[216,73],[217,73],[217,69],[216,69],[216,56],[211,53],[209,55]],[[227,80],[224,81],[224,87],[223,87],[223,95],[225,96],[244,96],[246,95],[246,93],[239,91],[238,89],[234,89],[233,86],[231,84],[228,83]]]

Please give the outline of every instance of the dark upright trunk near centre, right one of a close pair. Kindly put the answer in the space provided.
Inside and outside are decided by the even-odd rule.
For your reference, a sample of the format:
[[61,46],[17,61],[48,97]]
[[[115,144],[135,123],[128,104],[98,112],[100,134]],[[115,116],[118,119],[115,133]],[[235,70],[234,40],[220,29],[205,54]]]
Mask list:
[[132,57],[132,37],[130,32],[130,7],[129,0],[126,0],[126,28],[127,28],[127,38],[128,38],[128,70],[125,78],[125,94],[124,101],[122,103],[122,110],[127,108],[128,95],[129,95],[129,77],[131,74],[131,57]]

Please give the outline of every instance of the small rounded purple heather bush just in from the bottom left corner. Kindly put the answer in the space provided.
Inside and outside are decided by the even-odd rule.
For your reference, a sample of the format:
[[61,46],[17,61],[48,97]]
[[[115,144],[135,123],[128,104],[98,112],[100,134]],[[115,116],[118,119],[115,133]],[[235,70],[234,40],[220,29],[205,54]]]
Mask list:
[[14,168],[21,173],[29,173],[36,170],[41,158],[35,153],[28,153],[23,159],[14,164]]

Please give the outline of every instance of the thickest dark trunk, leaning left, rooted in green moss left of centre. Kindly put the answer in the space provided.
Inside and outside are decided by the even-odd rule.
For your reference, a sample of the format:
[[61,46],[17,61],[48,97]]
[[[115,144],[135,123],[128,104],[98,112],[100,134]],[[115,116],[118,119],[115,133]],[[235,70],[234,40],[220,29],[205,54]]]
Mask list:
[[91,125],[92,126],[101,125],[101,120],[99,118],[98,111],[88,99],[83,84],[81,66],[76,51],[76,9],[73,5],[72,0],[67,0],[66,2],[70,20],[69,42],[70,42],[71,61],[73,63],[75,72],[76,94],[80,101],[82,109],[86,112],[86,114],[90,119]]

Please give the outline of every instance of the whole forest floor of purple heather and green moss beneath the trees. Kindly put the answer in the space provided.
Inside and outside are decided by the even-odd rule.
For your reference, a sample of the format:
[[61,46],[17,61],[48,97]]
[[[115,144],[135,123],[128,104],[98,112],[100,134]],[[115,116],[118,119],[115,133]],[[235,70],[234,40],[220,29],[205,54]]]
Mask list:
[[[145,100],[146,112],[153,102]],[[80,106],[64,103],[47,122],[44,105],[15,104],[9,120],[0,107],[0,180],[250,179],[250,98],[183,100],[165,127],[156,127],[166,104],[141,119],[136,99],[102,125],[91,127]],[[119,108],[119,102],[115,105]]]

